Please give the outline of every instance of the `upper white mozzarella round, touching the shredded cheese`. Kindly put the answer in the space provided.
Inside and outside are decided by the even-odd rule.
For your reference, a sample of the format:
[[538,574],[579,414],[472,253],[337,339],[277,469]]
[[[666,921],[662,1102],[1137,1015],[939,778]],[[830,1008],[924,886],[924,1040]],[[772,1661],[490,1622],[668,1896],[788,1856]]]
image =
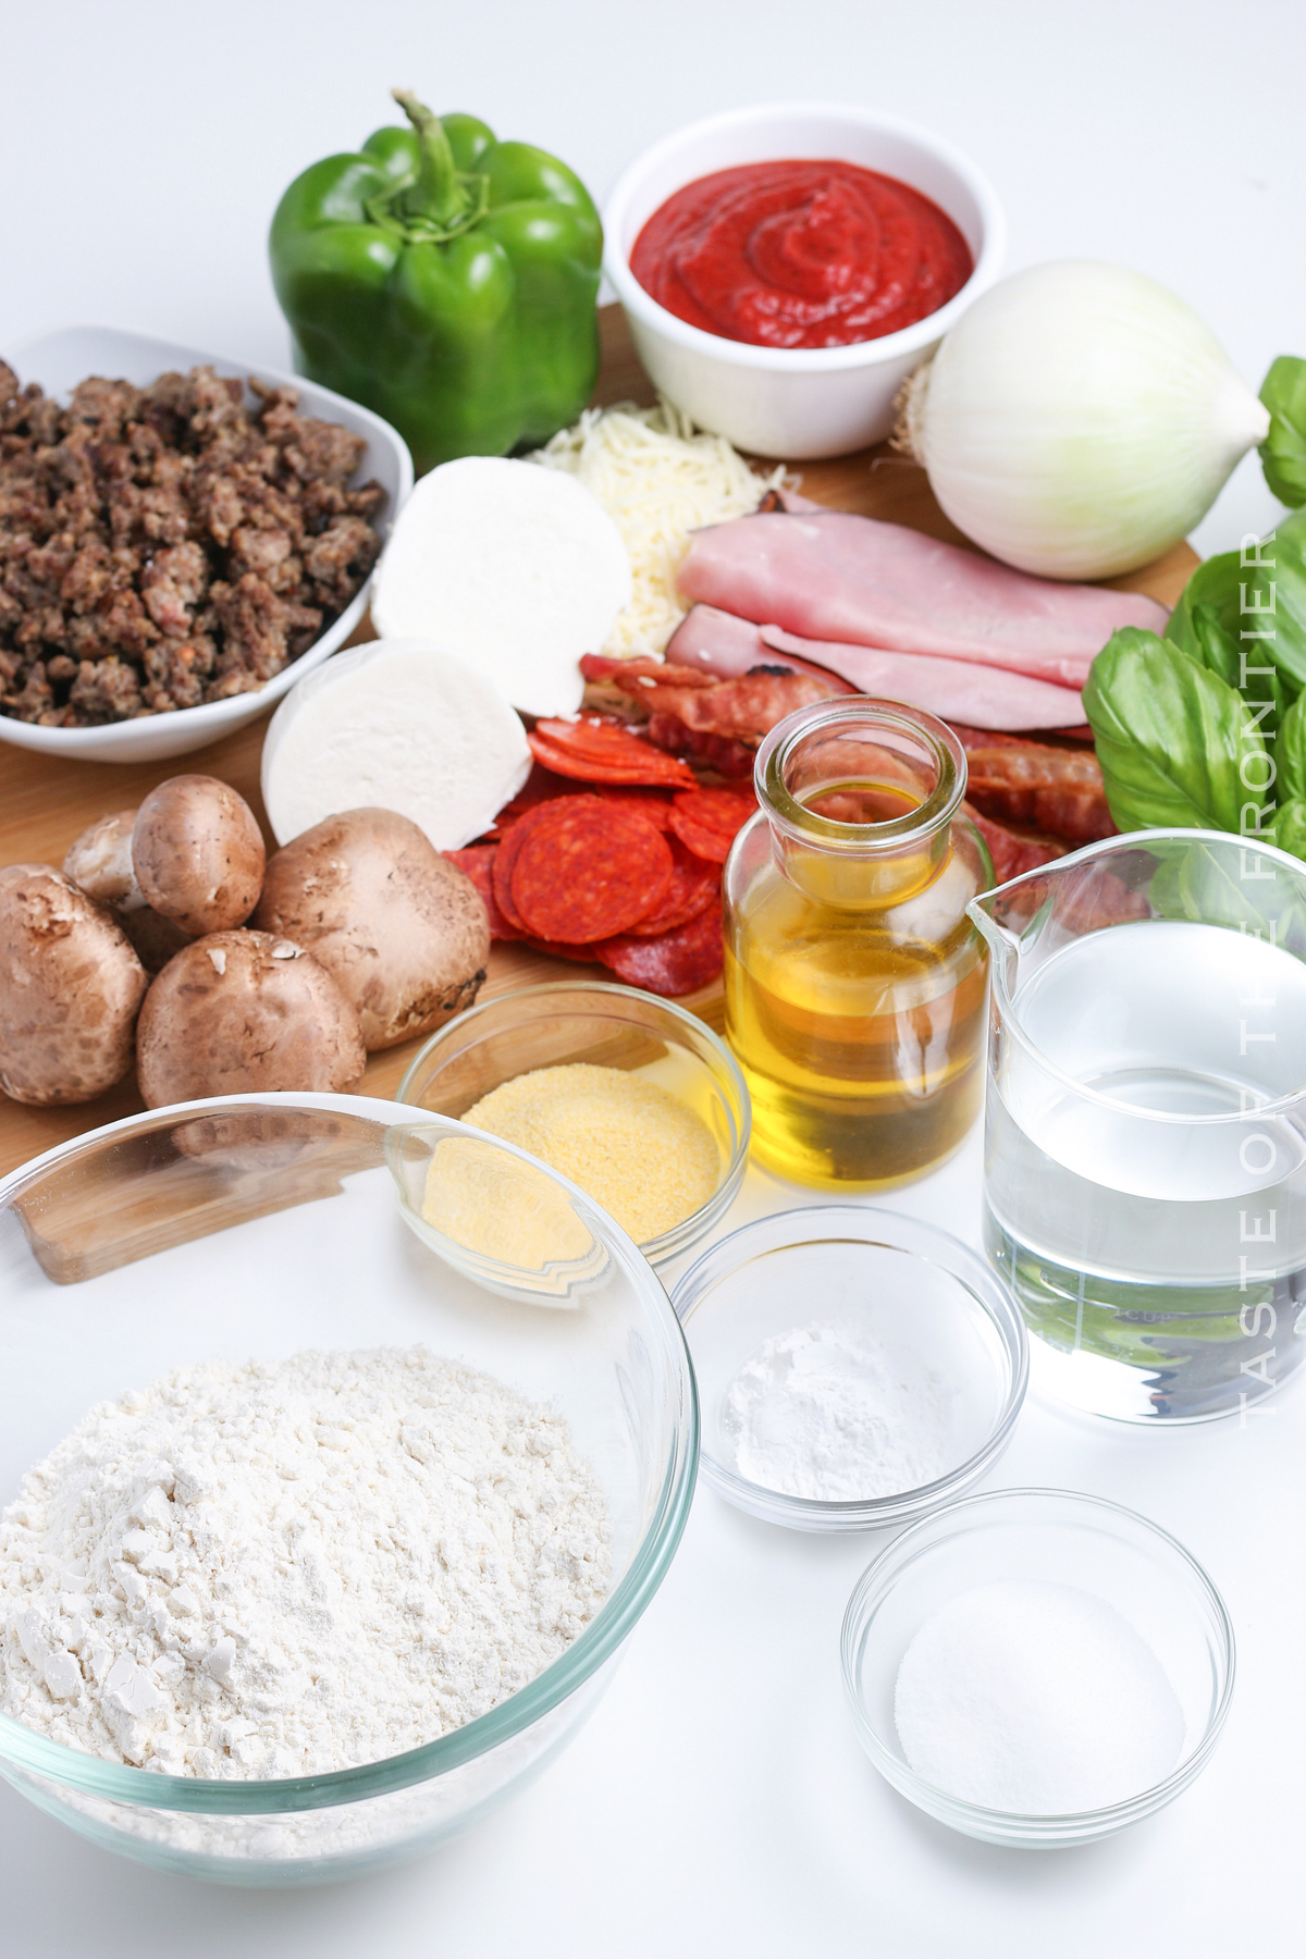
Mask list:
[[578,660],[630,601],[630,558],[574,476],[460,456],[423,476],[372,584],[382,639],[454,646],[529,715],[576,713]]

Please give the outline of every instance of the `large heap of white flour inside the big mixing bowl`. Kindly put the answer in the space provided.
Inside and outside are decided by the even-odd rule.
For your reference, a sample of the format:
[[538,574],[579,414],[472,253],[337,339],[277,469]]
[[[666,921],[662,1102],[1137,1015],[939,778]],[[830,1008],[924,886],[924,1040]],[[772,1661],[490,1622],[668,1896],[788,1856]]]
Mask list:
[[535,1679],[611,1583],[566,1422],[425,1348],[104,1403],[0,1518],[0,1712],[172,1775],[315,1775]]

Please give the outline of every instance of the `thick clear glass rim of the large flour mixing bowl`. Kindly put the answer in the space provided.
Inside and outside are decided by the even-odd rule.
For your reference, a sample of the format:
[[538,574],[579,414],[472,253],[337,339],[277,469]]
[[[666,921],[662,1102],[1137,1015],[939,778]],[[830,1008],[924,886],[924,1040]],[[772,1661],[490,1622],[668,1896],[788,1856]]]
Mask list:
[[[108,1123],[102,1128],[88,1130],[74,1136],[70,1142],[47,1150],[43,1156],[37,1156],[10,1171],[6,1177],[0,1177],[0,1209],[8,1209],[14,1197],[22,1195],[23,1187],[39,1181],[55,1166],[69,1164],[76,1156],[94,1156],[96,1150],[104,1146],[114,1148],[114,1144],[125,1136],[149,1132],[159,1126],[170,1126],[178,1117],[268,1107],[274,1111],[307,1107],[339,1115],[358,1115],[362,1119],[370,1117],[376,1121],[378,1128],[386,1124],[386,1115],[396,1115],[401,1109],[401,1121],[390,1121],[386,1124],[390,1132],[396,1128],[429,1128],[431,1124],[441,1124],[462,1134],[482,1134],[482,1130],[464,1130],[462,1123],[456,1123],[454,1117],[437,1115],[429,1109],[417,1111],[411,1105],[386,1103],[378,1097],[313,1093],[284,1097],[266,1093],[219,1095],[210,1101],[170,1103],[164,1109],[149,1109],[143,1115],[123,1117],[119,1123]],[[609,1218],[607,1213],[585,1195],[585,1191],[582,1191],[568,1177],[560,1175],[556,1170],[540,1166],[536,1158],[519,1150],[515,1144],[503,1142],[497,1136],[493,1142],[501,1150],[507,1150],[509,1156],[521,1158],[535,1170],[544,1168],[548,1175],[562,1185],[568,1197],[580,1199],[583,1211],[597,1213],[603,1220],[603,1230],[609,1242],[623,1256],[627,1269],[640,1285],[644,1285],[640,1273],[640,1267],[648,1266],[644,1254],[621,1230],[621,1226],[615,1224],[613,1218]],[[648,1269],[648,1287],[662,1293],[666,1299],[666,1287],[652,1269]],[[0,1757],[12,1761],[20,1769],[49,1777],[65,1789],[84,1791],[86,1794],[106,1796],[116,1802],[129,1802],[137,1808],[198,1810],[223,1816],[266,1816],[282,1810],[335,1808],[343,1802],[360,1802],[370,1796],[384,1796],[399,1789],[411,1789],[417,1783],[433,1781],[437,1775],[446,1775],[450,1769],[458,1769],[462,1763],[474,1761],[478,1755],[486,1755],[501,1742],[521,1734],[542,1714],[548,1714],[562,1700],[566,1700],[568,1695],[576,1693],[578,1687],[583,1687],[583,1683],[619,1649],[666,1577],[689,1520],[689,1506],[693,1503],[699,1467],[699,1389],[693,1373],[693,1360],[689,1356],[689,1344],[677,1316],[670,1311],[670,1301],[668,1318],[668,1334],[674,1326],[674,1336],[681,1346],[683,1383],[687,1393],[683,1416],[676,1424],[672,1461],[662,1481],[662,1491],[658,1493],[652,1522],[644,1530],[629,1571],[603,1602],[603,1608],[593,1624],[587,1626],[585,1632],[582,1632],[580,1638],[568,1646],[566,1653],[560,1653],[558,1659],[552,1661],[552,1665],[544,1667],[544,1671],[529,1681],[527,1687],[519,1687],[517,1693],[509,1695],[507,1700],[499,1702],[499,1706],[490,1708],[488,1714],[478,1714],[476,1720],[466,1722],[462,1728],[452,1728],[448,1734],[439,1736],[439,1740],[407,1749],[401,1755],[388,1755],[382,1761],[360,1763],[354,1769],[333,1769],[329,1775],[296,1775],[278,1781],[204,1781],[202,1777],[159,1775],[153,1769],[131,1769],[116,1761],[102,1761],[98,1755],[86,1755],[80,1749],[67,1747],[63,1742],[51,1742],[45,1736],[35,1734],[31,1728],[25,1728],[22,1722],[12,1720],[8,1714],[0,1714]]]

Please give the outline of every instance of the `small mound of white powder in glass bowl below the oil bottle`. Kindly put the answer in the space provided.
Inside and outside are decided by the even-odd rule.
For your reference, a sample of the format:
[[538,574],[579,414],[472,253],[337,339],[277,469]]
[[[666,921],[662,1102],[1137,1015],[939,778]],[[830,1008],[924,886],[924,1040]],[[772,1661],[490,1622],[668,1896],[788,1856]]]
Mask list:
[[910,1350],[822,1320],[775,1334],[744,1362],[721,1428],[738,1475],[816,1503],[920,1489],[965,1454],[940,1373]]

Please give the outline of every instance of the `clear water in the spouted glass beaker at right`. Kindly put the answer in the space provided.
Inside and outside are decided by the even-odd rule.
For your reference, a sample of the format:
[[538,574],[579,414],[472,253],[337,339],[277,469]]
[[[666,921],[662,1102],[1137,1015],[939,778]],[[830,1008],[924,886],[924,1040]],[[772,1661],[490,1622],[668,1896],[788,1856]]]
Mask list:
[[1265,1109],[1306,1087],[1306,966],[1216,925],[1118,925],[1053,952],[1014,1021],[985,1232],[1044,1387],[1126,1418],[1251,1407],[1306,1352],[1306,1117]]

